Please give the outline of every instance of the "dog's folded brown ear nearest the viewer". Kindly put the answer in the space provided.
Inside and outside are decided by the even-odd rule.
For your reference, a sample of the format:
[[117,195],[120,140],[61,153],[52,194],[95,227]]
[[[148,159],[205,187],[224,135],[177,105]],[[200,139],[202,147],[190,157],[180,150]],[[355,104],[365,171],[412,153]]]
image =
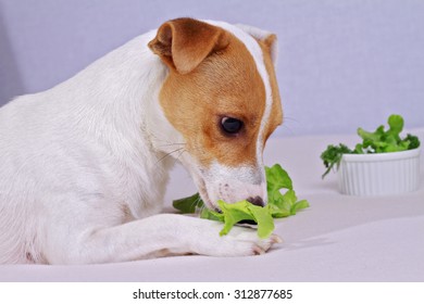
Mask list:
[[169,21],[158,29],[149,48],[179,74],[195,69],[211,52],[226,48],[226,33],[192,18]]

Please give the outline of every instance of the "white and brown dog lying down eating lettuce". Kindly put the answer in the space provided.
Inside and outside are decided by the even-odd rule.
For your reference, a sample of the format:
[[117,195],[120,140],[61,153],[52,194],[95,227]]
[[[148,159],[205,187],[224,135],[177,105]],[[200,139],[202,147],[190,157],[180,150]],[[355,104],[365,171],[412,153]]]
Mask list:
[[266,204],[262,153],[283,122],[276,36],[176,18],[0,109],[0,263],[262,254],[280,239],[161,214],[179,162],[205,206]]

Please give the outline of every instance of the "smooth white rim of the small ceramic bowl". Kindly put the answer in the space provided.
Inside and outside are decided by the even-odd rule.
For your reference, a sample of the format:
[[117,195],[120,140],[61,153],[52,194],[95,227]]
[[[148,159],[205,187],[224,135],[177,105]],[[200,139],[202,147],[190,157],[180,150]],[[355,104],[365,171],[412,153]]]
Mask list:
[[400,152],[370,153],[370,154],[342,154],[341,162],[387,162],[406,160],[420,156],[421,149],[415,148]]

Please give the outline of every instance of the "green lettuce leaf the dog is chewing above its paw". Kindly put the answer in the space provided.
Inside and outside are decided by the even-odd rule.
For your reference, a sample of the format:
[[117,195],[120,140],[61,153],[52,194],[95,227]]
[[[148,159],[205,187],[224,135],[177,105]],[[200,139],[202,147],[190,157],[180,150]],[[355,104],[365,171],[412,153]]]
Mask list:
[[[307,200],[298,201],[292,188],[291,178],[279,164],[265,167],[266,190],[269,202],[264,207],[253,205],[244,200],[233,204],[219,201],[221,213],[211,211],[204,206],[199,193],[191,197],[175,200],[173,206],[182,213],[196,213],[200,211],[200,217],[224,223],[220,236],[227,235],[234,225],[238,223],[254,223],[258,225],[258,237],[267,238],[274,231],[274,218],[295,215],[298,211],[309,206]],[[283,194],[282,190],[286,190]]]

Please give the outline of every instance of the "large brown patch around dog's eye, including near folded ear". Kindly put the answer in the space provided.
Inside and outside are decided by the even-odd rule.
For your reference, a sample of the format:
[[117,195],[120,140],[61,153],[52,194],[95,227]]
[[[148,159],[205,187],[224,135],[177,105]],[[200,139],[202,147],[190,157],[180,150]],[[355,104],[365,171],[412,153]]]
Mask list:
[[[165,37],[171,43],[185,43],[169,48],[171,53],[160,54],[170,66],[160,92],[166,118],[184,136],[186,150],[203,167],[214,160],[229,167],[255,165],[266,96],[251,53],[239,39],[220,27],[192,20],[179,20],[178,23],[187,24],[173,26],[172,38],[167,34]],[[198,26],[203,28],[201,39],[198,34],[192,35],[192,30],[196,31],[192,28]],[[149,43],[153,50],[159,50],[154,45],[163,40],[161,28]],[[167,27],[164,28],[167,31]],[[187,34],[187,28],[192,30]],[[177,38],[185,35],[191,38]],[[198,38],[200,40],[195,41]],[[176,53],[187,62],[194,59],[191,71],[178,67]],[[221,126],[223,117],[240,119],[244,123],[241,130],[235,135],[226,134]]]

